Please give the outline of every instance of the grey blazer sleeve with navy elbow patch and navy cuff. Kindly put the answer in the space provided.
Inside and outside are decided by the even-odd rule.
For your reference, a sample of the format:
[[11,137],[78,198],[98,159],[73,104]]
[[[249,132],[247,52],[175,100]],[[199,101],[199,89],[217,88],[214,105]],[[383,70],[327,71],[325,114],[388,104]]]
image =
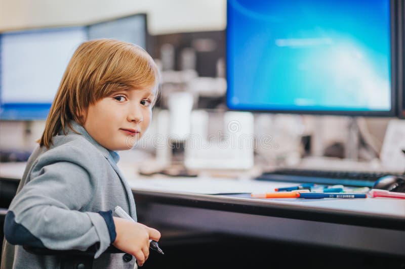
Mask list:
[[93,198],[96,180],[69,157],[51,159],[39,160],[31,180],[14,197],[5,219],[5,238],[14,245],[55,250],[96,245],[97,258],[115,240],[112,212],[82,212]]

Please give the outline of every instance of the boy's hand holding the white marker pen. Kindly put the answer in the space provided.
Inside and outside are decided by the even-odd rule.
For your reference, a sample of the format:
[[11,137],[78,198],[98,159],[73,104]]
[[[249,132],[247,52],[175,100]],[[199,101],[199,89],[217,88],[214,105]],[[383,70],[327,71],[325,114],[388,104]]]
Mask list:
[[142,266],[149,256],[149,239],[158,241],[160,239],[159,231],[122,218],[113,217],[113,219],[117,234],[113,245],[134,255],[138,265]]

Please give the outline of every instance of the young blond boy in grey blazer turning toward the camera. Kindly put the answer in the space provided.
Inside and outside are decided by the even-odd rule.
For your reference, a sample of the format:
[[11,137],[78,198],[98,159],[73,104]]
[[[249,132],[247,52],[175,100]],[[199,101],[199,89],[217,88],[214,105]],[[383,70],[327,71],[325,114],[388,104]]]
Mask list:
[[56,250],[96,247],[95,268],[142,265],[149,239],[160,233],[113,216],[120,206],[136,220],[131,189],[114,150],[130,149],[145,133],[158,89],[158,69],[142,48],[92,40],[74,52],[52,104],[39,146],[30,156],[5,219],[1,268],[59,268]]

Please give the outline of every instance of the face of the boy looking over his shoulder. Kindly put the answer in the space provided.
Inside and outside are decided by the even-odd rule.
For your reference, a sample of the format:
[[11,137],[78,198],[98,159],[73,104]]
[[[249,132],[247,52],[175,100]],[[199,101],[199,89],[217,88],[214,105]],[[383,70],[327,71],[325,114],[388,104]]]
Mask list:
[[116,91],[89,105],[86,131],[110,150],[130,149],[149,127],[152,117],[152,88]]

